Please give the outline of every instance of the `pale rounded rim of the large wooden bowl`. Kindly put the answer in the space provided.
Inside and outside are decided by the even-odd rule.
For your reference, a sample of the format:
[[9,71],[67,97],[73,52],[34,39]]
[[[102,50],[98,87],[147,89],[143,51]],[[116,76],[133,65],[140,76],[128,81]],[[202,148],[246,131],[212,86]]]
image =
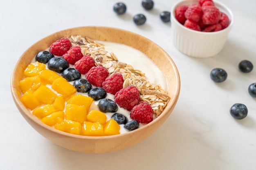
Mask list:
[[[171,59],[171,57],[168,55],[168,53],[166,51],[164,51],[160,46],[158,46],[157,44],[155,44],[153,41],[151,41],[150,39],[147,39],[148,41],[151,41],[153,44],[155,44],[155,46],[157,46],[160,50],[162,50],[163,54],[165,56],[168,56],[168,60],[170,61],[170,63],[172,64],[172,67],[174,69],[174,73],[175,73],[175,79],[176,79],[176,90],[175,90],[175,96],[173,96],[173,98],[171,98],[169,101],[168,101],[168,104],[165,108],[166,111],[164,111],[163,113],[161,113],[155,120],[153,120],[152,122],[150,122],[149,124],[146,124],[138,129],[135,129],[134,131],[129,131],[128,133],[122,133],[122,134],[118,134],[118,135],[110,135],[110,136],[85,136],[85,135],[75,135],[75,134],[71,134],[71,133],[66,133],[66,132],[63,132],[63,131],[60,131],[60,130],[57,130],[57,129],[54,129],[53,127],[51,126],[48,126],[46,124],[44,124],[43,122],[40,121],[39,118],[36,118],[34,115],[31,114],[31,112],[22,104],[22,102],[19,100],[19,92],[17,91],[18,89],[16,89],[15,87],[15,84],[14,82],[16,81],[14,78],[15,78],[15,71],[17,70],[18,68],[18,63],[21,62],[22,60],[22,57],[28,52],[29,49],[33,48],[36,46],[36,44],[39,44],[41,41],[45,41],[45,39],[49,38],[50,36],[53,36],[53,35],[56,35],[56,33],[63,33],[65,31],[72,31],[74,29],[79,29],[79,28],[94,28],[94,29],[114,29],[114,30],[118,30],[118,31],[126,31],[127,33],[129,34],[133,34],[133,35],[136,35],[136,36],[140,36],[142,37],[143,39],[147,39],[146,37],[143,37],[137,33],[133,33],[131,31],[127,31],[127,30],[124,30],[124,29],[120,29],[120,28],[115,28],[115,27],[108,27],[108,26],[80,26],[80,27],[73,27],[73,28],[67,28],[67,29],[64,29],[64,30],[61,30],[61,31],[57,31],[55,33],[52,33],[38,41],[36,41],[36,43],[34,43],[33,45],[31,45],[29,48],[27,48],[27,50],[25,50],[25,52],[23,52],[23,54],[20,56],[20,58],[18,59],[18,61],[16,62],[14,68],[13,68],[13,71],[11,73],[11,94],[12,94],[12,97],[13,97],[13,100],[16,104],[16,107],[18,108],[18,110],[20,111],[20,113],[24,113],[27,117],[25,117],[23,114],[22,116],[27,120],[27,118],[33,122],[35,122],[36,124],[38,124],[39,126],[43,126],[43,128],[51,131],[52,133],[57,133],[59,135],[62,135],[62,136],[66,136],[66,137],[72,137],[72,138],[79,138],[79,139],[112,139],[112,138],[116,138],[116,137],[121,137],[121,136],[128,136],[128,135],[132,135],[133,133],[138,133],[139,131],[143,131],[144,129],[146,128],[150,128],[148,126],[151,126],[153,124],[157,124],[157,122],[159,122],[161,120],[162,117],[164,116],[169,116],[171,113],[166,113],[169,109],[171,109],[171,111],[174,109],[176,103],[177,103],[177,100],[178,100],[178,97],[179,97],[179,94],[180,94],[180,75],[179,75],[179,72],[177,70],[177,67],[173,61],[173,59]],[[57,40],[57,39],[56,39]],[[97,40],[96,40],[97,41]],[[106,40],[107,41],[107,40]],[[168,85],[168,84],[167,84]],[[168,89],[168,87],[167,87]],[[170,112],[171,112],[170,111]]]

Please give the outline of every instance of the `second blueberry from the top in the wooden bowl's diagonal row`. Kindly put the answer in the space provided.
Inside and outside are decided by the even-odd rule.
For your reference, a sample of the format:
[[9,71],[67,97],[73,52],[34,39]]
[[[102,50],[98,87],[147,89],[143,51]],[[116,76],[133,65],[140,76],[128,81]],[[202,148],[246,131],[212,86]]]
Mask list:
[[62,57],[53,57],[49,59],[47,67],[49,70],[53,70],[57,73],[63,72],[65,69],[69,68],[70,64]]

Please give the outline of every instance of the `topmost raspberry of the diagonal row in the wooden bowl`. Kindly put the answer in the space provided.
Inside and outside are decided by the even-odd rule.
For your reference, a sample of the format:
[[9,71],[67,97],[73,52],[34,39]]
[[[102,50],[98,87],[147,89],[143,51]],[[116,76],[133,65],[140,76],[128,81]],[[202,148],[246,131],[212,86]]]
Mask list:
[[72,44],[70,40],[64,37],[52,43],[49,51],[56,56],[63,56],[71,47]]

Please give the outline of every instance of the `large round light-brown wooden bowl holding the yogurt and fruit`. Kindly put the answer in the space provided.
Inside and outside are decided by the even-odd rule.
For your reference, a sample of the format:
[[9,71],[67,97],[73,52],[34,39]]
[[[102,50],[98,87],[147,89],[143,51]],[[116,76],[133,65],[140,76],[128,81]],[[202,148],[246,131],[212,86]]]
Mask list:
[[[153,122],[134,131],[103,137],[90,137],[65,133],[47,126],[32,115],[20,101],[18,82],[23,78],[23,71],[27,65],[31,63],[31,60],[35,57],[38,51],[45,50],[56,40],[61,39],[62,37],[70,37],[70,35],[81,35],[95,40],[126,44],[146,54],[160,68],[166,77],[168,94],[171,96],[171,99],[162,114],[153,120]],[[164,123],[173,111],[178,100],[180,94],[180,76],[171,57],[149,39],[118,28],[85,26],[59,31],[41,39],[28,48],[22,54],[13,69],[11,75],[11,93],[16,106],[25,120],[27,120],[27,122],[45,138],[70,150],[85,153],[106,153],[121,150],[140,142],[151,135]]]

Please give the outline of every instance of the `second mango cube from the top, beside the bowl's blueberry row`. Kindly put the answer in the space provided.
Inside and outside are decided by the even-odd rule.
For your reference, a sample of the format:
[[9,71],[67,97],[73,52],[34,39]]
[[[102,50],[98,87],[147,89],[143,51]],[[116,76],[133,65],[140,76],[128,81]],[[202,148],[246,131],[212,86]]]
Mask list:
[[52,84],[54,80],[60,77],[56,72],[48,69],[44,69],[38,73],[41,81],[45,84]]

